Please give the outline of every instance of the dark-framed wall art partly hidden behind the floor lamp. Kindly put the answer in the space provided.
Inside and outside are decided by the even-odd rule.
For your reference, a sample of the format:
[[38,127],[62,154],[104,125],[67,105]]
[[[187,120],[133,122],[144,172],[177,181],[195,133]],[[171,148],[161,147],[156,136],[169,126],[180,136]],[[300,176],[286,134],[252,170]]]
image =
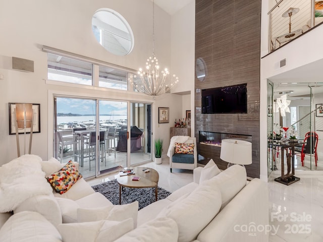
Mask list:
[[[9,135],[16,134],[16,124],[15,124],[15,103],[9,103]],[[40,104],[33,103],[32,109],[34,112],[33,116],[33,130],[32,133],[40,133]],[[18,131],[19,134],[24,134],[24,129]],[[30,134],[30,128],[26,129],[26,134]]]

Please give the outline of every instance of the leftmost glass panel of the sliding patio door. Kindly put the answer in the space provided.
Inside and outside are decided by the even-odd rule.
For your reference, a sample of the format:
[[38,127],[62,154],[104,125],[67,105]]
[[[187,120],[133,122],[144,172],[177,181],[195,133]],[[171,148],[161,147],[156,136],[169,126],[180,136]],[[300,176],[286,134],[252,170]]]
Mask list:
[[54,157],[80,164],[84,177],[95,175],[96,100],[55,97]]

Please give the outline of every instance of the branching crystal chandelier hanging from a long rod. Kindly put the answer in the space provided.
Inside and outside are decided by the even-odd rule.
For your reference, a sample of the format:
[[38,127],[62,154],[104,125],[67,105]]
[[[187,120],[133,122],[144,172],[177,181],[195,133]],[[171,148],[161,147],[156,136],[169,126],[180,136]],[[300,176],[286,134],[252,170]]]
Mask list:
[[152,57],[147,58],[145,70],[140,68],[138,76],[131,74],[128,81],[138,92],[153,96],[153,98],[169,92],[179,81],[176,75],[173,75],[173,79],[168,81],[170,72],[167,68],[159,73],[158,59],[154,53],[154,35],[154,1],[152,1]]

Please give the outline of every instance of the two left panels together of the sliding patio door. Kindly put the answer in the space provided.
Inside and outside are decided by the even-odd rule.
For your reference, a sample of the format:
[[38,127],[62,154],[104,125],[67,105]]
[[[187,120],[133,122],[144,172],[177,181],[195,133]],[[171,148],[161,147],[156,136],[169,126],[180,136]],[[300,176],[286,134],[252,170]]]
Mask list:
[[55,97],[55,158],[80,164],[83,177],[127,166],[119,132],[127,130],[127,102]]

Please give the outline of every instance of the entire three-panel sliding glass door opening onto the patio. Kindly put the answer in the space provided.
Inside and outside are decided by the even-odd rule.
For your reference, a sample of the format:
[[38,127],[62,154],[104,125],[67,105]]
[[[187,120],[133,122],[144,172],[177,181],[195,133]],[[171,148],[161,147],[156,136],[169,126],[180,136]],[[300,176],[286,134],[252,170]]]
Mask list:
[[85,178],[151,160],[151,104],[59,96],[54,103],[54,157],[79,162]]

